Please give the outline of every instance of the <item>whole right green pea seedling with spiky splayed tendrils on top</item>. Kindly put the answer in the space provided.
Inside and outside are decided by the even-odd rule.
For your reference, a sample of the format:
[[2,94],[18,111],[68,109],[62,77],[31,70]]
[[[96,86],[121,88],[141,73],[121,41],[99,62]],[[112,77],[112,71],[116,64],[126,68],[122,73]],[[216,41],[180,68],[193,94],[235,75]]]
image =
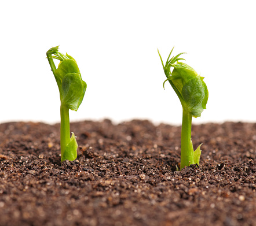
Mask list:
[[[174,47],[173,47],[174,48]],[[173,49],[171,50],[171,53]],[[179,58],[181,54],[171,57],[171,53],[167,58],[166,64],[163,64],[162,57],[159,53],[160,60],[163,65],[163,71],[167,77],[164,81],[169,81],[171,87],[180,99],[182,113],[181,127],[181,166],[180,169],[191,164],[199,165],[201,150],[200,146],[194,151],[191,140],[191,123],[192,117],[200,117],[206,103],[208,101],[208,90],[204,83],[204,77],[201,77],[191,66],[179,62],[184,60]],[[172,70],[171,70],[172,69]],[[163,87],[164,87],[163,83]]]

